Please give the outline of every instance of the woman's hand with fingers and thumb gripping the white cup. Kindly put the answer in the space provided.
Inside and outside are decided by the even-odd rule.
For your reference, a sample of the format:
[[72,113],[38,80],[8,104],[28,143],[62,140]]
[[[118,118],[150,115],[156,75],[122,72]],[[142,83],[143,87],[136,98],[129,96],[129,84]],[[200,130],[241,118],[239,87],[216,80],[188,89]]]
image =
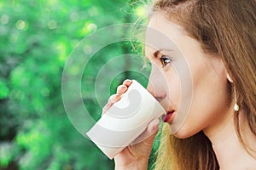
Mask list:
[[[102,114],[104,114],[108,109],[119,99],[121,98],[121,94],[124,94],[126,90],[131,85],[131,80],[125,80],[122,85],[119,85],[117,88],[117,93],[113,94],[108,99],[108,104],[102,110]],[[149,123],[147,129],[138,139],[143,139],[143,141],[133,142],[134,144],[130,144],[125,147],[117,156],[114,157],[115,161],[115,169],[147,169],[148,167],[148,158],[150,156],[150,152],[152,150],[152,144],[154,142],[154,137],[159,128],[159,119],[154,119]],[[147,138],[146,138],[147,137]]]

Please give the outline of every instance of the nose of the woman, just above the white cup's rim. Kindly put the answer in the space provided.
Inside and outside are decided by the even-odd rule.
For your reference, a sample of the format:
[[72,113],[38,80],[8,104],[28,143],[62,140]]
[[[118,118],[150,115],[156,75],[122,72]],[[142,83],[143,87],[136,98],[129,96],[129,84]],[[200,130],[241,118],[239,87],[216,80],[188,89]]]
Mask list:
[[158,71],[151,71],[147,90],[158,101],[166,98],[166,81]]

